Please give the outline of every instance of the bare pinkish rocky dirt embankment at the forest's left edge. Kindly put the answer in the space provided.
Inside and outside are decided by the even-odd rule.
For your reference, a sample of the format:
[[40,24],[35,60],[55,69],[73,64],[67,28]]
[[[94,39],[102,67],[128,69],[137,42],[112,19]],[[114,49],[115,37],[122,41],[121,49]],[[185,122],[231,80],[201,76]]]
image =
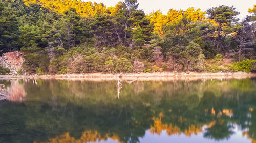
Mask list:
[[16,75],[18,69],[23,70],[22,64],[24,62],[24,54],[26,54],[26,52],[15,51],[4,53],[0,56],[0,66],[9,68],[10,75]]

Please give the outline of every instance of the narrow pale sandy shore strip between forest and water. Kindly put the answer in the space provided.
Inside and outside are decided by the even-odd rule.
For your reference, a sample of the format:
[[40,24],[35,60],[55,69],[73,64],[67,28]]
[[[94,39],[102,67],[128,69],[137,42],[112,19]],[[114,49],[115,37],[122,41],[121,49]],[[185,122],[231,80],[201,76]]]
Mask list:
[[1,79],[63,79],[63,80],[88,80],[88,81],[102,81],[102,80],[154,80],[154,81],[168,81],[168,80],[199,80],[199,79],[243,79],[256,77],[256,73],[245,72],[217,72],[217,73],[198,73],[198,72],[156,72],[156,73],[87,73],[87,74],[58,74],[58,75],[0,75]]

